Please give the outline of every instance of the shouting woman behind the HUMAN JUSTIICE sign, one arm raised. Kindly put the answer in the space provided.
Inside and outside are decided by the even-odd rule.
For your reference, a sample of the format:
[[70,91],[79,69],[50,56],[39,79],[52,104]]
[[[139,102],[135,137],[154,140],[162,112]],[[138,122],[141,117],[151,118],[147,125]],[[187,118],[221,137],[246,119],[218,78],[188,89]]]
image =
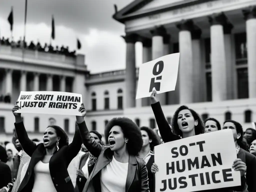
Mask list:
[[[169,127],[168,122],[165,119],[164,113],[162,111],[159,101],[155,98],[156,91],[154,90],[151,94],[152,109],[156,118],[157,125],[159,127],[160,134],[162,135],[163,141],[170,142],[179,140],[182,138],[190,137],[205,133],[204,123],[202,122],[200,116],[192,109],[187,106],[180,106],[173,115],[171,127]],[[241,159],[235,159],[233,163],[233,168],[236,171],[240,171],[241,174],[241,186],[234,187],[236,191],[242,191],[246,186],[246,180],[244,173],[246,172],[246,165]],[[158,171],[157,165],[153,163],[151,167],[151,172],[156,173]],[[204,192],[233,192],[233,189],[212,189],[205,190]]]

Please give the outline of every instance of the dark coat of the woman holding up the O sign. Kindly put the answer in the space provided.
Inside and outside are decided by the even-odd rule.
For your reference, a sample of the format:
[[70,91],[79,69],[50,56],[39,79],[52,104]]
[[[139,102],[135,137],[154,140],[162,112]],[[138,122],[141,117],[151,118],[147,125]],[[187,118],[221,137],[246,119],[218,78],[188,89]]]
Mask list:
[[[160,102],[151,104],[151,107],[155,115],[156,123],[163,141],[167,143],[170,141],[176,141],[181,139],[178,135],[175,135],[172,133],[169,123],[165,119]],[[248,170],[248,167],[247,167],[247,170]],[[245,185],[246,185],[246,178],[243,176],[241,177],[241,186],[231,187],[231,188],[210,189],[210,190],[197,191],[197,192],[233,192],[233,190],[243,191],[243,189],[245,188]],[[249,192],[255,192],[255,191],[249,191]]]

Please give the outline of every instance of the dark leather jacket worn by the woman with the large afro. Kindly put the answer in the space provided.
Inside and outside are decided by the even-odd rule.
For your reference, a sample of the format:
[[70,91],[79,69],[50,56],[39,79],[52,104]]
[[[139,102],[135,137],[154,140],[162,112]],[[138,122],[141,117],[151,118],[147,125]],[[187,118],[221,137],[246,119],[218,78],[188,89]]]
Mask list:
[[[78,124],[83,144],[89,152],[97,157],[97,162],[83,188],[83,192],[101,192],[100,173],[113,158],[113,152],[109,147],[99,144],[89,133],[86,123]],[[146,163],[143,158],[129,155],[128,173],[125,192],[149,192]]]

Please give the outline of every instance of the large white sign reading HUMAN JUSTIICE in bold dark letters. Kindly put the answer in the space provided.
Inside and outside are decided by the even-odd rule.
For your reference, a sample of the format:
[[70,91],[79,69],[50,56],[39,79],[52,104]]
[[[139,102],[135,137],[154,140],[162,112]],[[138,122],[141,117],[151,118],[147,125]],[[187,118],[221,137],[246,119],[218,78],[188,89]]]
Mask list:
[[193,192],[241,185],[232,130],[225,129],[155,146],[155,191]]

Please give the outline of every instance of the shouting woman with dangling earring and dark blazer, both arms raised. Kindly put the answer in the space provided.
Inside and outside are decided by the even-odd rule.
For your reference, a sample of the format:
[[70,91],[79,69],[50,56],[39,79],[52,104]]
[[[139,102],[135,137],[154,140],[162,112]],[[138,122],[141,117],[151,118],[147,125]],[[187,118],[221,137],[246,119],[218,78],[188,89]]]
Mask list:
[[68,135],[59,126],[48,126],[44,132],[43,143],[36,145],[28,138],[16,101],[12,112],[15,116],[15,129],[23,150],[31,157],[26,175],[18,192],[62,192],[74,191],[68,174],[68,165],[78,154],[82,139],[79,131],[75,132],[69,145]]

